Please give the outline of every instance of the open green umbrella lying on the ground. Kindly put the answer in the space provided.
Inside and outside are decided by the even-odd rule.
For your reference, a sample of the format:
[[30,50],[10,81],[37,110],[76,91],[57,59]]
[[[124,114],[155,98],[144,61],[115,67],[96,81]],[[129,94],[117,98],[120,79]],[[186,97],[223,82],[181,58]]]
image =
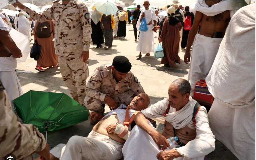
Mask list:
[[65,93],[32,91],[13,100],[18,117],[40,132],[59,130],[88,119],[88,110]]

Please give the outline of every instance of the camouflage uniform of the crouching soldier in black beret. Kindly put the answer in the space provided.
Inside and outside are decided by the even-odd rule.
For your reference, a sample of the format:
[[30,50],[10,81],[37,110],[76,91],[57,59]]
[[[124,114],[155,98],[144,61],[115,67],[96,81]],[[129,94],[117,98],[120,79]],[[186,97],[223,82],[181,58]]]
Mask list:
[[103,64],[96,68],[85,89],[84,106],[90,111],[103,111],[105,96],[112,97],[118,105],[129,105],[139,93],[145,93],[138,79],[128,72],[124,79],[116,82],[111,64]]

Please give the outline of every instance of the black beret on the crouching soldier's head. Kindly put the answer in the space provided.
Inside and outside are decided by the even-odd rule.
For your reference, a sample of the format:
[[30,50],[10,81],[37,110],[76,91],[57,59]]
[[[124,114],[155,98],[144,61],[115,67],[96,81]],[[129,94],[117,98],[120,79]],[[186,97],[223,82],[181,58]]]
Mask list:
[[116,56],[113,59],[112,66],[121,73],[127,73],[131,70],[132,65],[129,62],[129,59],[125,56]]

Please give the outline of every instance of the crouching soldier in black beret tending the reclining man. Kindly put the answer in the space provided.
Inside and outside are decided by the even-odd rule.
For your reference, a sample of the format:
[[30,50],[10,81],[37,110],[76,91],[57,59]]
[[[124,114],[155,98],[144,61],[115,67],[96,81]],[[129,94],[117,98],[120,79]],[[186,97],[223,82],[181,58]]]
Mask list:
[[[124,56],[116,56],[112,65],[103,64],[96,68],[85,90],[84,106],[103,114],[105,104],[114,110],[121,104],[129,105],[136,95],[145,93],[138,79],[130,72],[131,68],[131,63]],[[137,105],[137,101],[133,103]],[[93,118],[91,124],[98,121]]]

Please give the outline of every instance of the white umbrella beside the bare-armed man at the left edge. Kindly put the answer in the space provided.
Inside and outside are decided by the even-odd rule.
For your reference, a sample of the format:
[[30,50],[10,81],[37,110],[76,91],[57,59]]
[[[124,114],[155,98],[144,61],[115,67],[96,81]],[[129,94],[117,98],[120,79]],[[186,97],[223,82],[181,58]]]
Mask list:
[[19,31],[16,31],[13,28],[11,29],[9,34],[13,39],[13,41],[15,42],[15,44],[17,45],[17,47],[21,50],[21,53],[23,55],[23,57],[17,58],[17,63],[25,62],[27,59],[27,56],[30,53],[30,46],[29,46],[30,42],[28,40],[28,37],[20,33]]

